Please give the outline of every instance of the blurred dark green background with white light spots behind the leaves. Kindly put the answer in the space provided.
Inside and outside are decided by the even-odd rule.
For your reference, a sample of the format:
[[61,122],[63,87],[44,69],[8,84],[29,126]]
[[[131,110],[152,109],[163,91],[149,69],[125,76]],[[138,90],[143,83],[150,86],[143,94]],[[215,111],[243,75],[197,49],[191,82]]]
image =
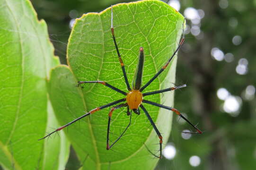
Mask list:
[[[31,0],[48,26],[55,54],[66,64],[75,18],[131,0]],[[256,170],[256,0],[169,0],[186,17],[178,54],[175,107],[203,135],[174,115],[156,170]],[[75,153],[67,169],[77,170]]]

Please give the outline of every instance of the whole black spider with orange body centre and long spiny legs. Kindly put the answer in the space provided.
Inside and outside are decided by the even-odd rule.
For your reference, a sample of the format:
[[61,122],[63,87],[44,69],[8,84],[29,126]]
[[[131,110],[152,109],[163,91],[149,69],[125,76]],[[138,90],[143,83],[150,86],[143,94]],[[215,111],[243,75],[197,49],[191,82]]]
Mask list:
[[[126,84],[128,92],[124,92],[123,90],[120,90],[120,89],[116,88],[115,86],[108,84],[105,81],[99,81],[99,80],[97,80],[97,81],[79,81],[77,86],[82,85],[82,84],[87,84],[87,83],[102,84],[102,85],[106,85],[107,87],[109,87],[110,89],[112,89],[112,90],[114,90],[118,93],[123,94],[125,96],[125,98],[114,101],[114,102],[110,102],[106,105],[99,106],[99,107],[97,107],[93,110],[90,110],[86,114],[80,116],[77,119],[74,119],[73,121],[69,122],[68,124],[66,124],[62,127],[57,128],[52,133],[50,133],[50,134],[48,134],[48,135],[46,135],[46,136],[44,136],[44,137],[42,137],[38,140],[44,139],[48,136],[51,136],[53,133],[58,132],[58,131],[62,130],[65,127],[68,127],[69,125],[73,124],[74,122],[78,121],[79,119],[87,117],[87,116],[95,113],[98,110],[102,110],[102,109],[105,109],[107,107],[115,105],[114,107],[111,108],[111,110],[109,111],[109,114],[108,114],[106,149],[109,150],[119,139],[121,139],[121,137],[124,135],[124,133],[126,132],[128,127],[131,125],[132,112],[134,112],[135,114],[140,115],[141,112],[140,112],[139,108],[141,108],[141,110],[143,110],[143,112],[146,114],[147,118],[150,121],[150,124],[152,125],[153,129],[155,130],[155,132],[157,133],[157,135],[159,137],[159,151],[160,151],[159,156],[150,152],[150,150],[147,148],[147,146],[146,146],[146,148],[155,157],[162,158],[163,137],[161,136],[161,133],[159,132],[158,128],[156,127],[155,123],[153,122],[152,118],[150,117],[150,114],[148,113],[148,111],[146,110],[146,108],[143,106],[142,103],[148,103],[148,104],[151,104],[153,106],[157,106],[159,108],[164,108],[164,109],[171,110],[171,111],[175,112],[182,119],[184,119],[186,122],[188,122],[192,127],[194,127],[194,129],[196,129],[196,132],[192,132],[192,133],[201,134],[202,131],[199,130],[195,125],[193,125],[188,119],[186,119],[177,109],[143,99],[143,97],[145,97],[147,95],[153,95],[153,94],[157,94],[157,93],[164,93],[164,92],[168,92],[168,91],[173,91],[173,90],[176,90],[176,89],[179,89],[179,88],[182,88],[182,87],[186,86],[186,85],[179,85],[179,86],[174,86],[174,87],[170,87],[170,88],[166,88],[166,89],[162,89],[162,90],[157,90],[157,91],[153,91],[153,92],[142,93],[143,90],[146,87],[148,87],[150,85],[150,83],[152,83],[168,67],[170,61],[177,54],[177,51],[180,49],[180,47],[182,46],[182,44],[185,41],[184,34],[183,34],[183,37],[182,37],[182,39],[180,40],[180,42],[178,44],[177,49],[174,51],[172,56],[170,56],[170,58],[168,59],[166,64],[155,74],[155,76],[153,76],[143,86],[141,86],[141,84],[142,84],[142,74],[143,74],[143,65],[144,65],[144,50],[143,50],[143,47],[140,47],[138,64],[137,64],[137,68],[136,68],[136,71],[135,71],[135,74],[134,74],[134,78],[133,78],[133,81],[132,81],[132,88],[131,88],[131,86],[128,82],[128,79],[127,79],[127,75],[126,75],[126,71],[125,71],[125,67],[124,67],[124,62],[121,58],[121,55],[120,55],[120,52],[119,52],[119,49],[118,49],[118,46],[117,46],[117,43],[116,43],[116,40],[115,40],[115,33],[114,33],[114,27],[113,27],[113,7],[112,6],[111,6],[111,28],[110,28],[110,30],[111,30],[112,38],[113,38],[113,41],[114,41],[114,44],[115,44],[115,50],[117,52],[117,56],[118,56],[119,62],[121,64],[121,68],[122,68],[122,71],[123,71],[124,80],[125,80],[125,84]],[[121,102],[123,102],[123,103],[121,103]],[[118,103],[121,103],[121,104],[118,104]],[[118,105],[116,105],[116,104],[118,104]],[[124,129],[123,133],[112,144],[109,144],[109,130],[110,130],[110,122],[111,122],[111,117],[112,117],[113,111],[116,110],[116,109],[119,109],[119,108],[123,108],[123,107],[127,108],[127,115],[130,116],[129,124]]]

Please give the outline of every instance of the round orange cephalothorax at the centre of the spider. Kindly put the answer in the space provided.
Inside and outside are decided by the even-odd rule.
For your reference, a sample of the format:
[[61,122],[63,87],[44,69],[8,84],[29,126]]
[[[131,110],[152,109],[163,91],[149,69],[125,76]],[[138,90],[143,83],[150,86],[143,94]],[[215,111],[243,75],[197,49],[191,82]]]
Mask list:
[[142,93],[139,90],[132,90],[127,94],[126,101],[130,109],[138,109],[143,100]]

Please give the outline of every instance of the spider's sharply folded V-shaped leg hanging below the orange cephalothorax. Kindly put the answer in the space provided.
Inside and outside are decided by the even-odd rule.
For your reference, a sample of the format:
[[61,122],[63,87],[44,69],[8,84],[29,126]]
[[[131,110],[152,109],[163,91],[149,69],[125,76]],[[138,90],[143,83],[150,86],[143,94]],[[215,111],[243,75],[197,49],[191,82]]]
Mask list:
[[114,110],[116,109],[119,109],[121,107],[125,107],[125,106],[128,106],[127,103],[123,103],[123,104],[119,104],[115,107],[113,107],[109,114],[108,114],[108,123],[107,123],[107,135],[106,135],[106,149],[109,150],[119,139],[121,139],[121,137],[124,135],[124,133],[126,132],[126,130],[128,129],[128,127],[131,125],[131,119],[132,119],[132,113],[130,114],[130,121],[129,121],[129,124],[127,125],[127,127],[124,129],[123,133],[113,142],[113,144],[111,144],[109,146],[109,129],[110,129],[110,120],[111,120],[111,117],[112,117],[112,113]]

